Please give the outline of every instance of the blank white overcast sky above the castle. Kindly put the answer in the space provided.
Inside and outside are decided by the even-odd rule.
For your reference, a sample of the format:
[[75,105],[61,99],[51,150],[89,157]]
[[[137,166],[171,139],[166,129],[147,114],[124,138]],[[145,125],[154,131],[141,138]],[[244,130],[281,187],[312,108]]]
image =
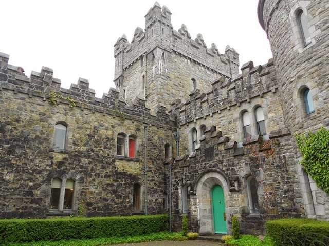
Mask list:
[[[230,45],[240,54],[240,67],[272,57],[257,17],[258,0],[159,0],[172,12],[173,28],[185,24],[195,39],[202,34],[224,53]],[[0,0],[0,52],[25,74],[52,68],[53,76],[69,88],[78,78],[89,80],[97,97],[115,87],[114,44],[126,34],[131,42],[137,26],[145,28],[145,14],[155,0]]]

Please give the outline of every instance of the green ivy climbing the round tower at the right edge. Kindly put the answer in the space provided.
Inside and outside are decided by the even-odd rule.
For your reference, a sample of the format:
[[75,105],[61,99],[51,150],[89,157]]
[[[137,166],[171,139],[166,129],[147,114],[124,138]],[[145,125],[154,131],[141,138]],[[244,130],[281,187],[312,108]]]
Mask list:
[[317,186],[329,194],[329,131],[324,127],[315,134],[295,135],[303,154],[301,164]]

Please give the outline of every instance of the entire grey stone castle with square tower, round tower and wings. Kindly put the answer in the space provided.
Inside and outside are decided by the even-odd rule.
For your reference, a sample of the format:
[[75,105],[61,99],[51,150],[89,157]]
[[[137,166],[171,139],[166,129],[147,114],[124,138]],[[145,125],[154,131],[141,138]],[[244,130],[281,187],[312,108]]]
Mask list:
[[114,45],[102,98],[61,88],[0,53],[0,218],[186,214],[200,234],[264,233],[266,220],[329,220],[329,195],[294,134],[329,126],[329,1],[260,0],[273,58],[241,67],[155,3]]

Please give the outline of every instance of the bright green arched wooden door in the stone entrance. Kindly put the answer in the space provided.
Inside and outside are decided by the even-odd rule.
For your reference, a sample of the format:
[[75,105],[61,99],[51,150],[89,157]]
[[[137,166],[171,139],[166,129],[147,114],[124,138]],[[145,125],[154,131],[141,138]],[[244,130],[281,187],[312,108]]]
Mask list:
[[224,191],[220,185],[215,185],[212,188],[212,211],[215,233],[226,234]]

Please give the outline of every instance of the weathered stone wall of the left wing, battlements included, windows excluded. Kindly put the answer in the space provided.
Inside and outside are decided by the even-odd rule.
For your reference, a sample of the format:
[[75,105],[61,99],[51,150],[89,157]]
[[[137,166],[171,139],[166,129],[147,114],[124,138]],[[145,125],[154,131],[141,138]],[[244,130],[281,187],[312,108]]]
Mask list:
[[[49,213],[55,177],[75,180],[73,212],[84,204],[86,216],[131,215],[134,183],[141,186],[141,196],[144,190],[144,126],[148,126],[148,213],[166,211],[163,161],[165,144],[173,145],[168,132],[175,127],[163,107],[158,116],[150,114],[143,100],[127,107],[115,89],[95,98],[84,79],[63,89],[51,69],[43,67],[28,78],[7,64],[8,55],[0,56],[1,218],[56,215]],[[56,105],[49,104],[51,92],[74,98],[76,106],[58,98]],[[57,122],[67,124],[64,151],[52,149]],[[116,155],[121,132],[135,137],[135,158]],[[143,210],[143,198],[141,203]]]

